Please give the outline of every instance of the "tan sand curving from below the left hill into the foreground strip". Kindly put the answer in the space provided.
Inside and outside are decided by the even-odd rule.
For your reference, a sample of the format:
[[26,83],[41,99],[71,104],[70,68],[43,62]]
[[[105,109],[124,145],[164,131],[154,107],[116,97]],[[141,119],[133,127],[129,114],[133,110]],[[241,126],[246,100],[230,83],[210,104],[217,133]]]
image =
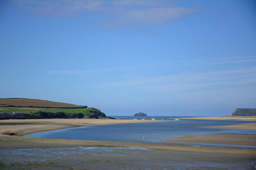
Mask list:
[[[205,152],[205,153],[240,153],[256,154],[256,148],[190,146],[172,143],[134,143],[117,141],[86,141],[71,139],[28,138],[26,134],[43,131],[67,129],[70,127],[129,124],[142,122],[156,122],[162,120],[113,120],[113,119],[36,119],[36,120],[1,120],[0,121],[0,149],[6,148],[60,148],[77,146],[117,146],[132,148],[152,148],[160,150],[173,150],[180,152]],[[6,134],[13,133],[13,135]],[[237,138],[238,136],[234,136]],[[177,139],[177,138],[175,138]],[[256,140],[255,140],[256,141]]]

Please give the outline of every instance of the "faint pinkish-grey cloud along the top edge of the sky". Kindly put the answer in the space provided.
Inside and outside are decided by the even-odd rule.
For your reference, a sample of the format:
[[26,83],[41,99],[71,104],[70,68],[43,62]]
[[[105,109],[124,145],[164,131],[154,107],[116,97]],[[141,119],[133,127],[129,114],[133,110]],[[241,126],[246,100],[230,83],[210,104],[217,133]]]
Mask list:
[[[189,13],[199,11],[199,8],[181,8],[174,6],[165,0],[13,0],[19,4],[23,10],[29,11],[33,15],[43,17],[80,17],[93,18],[94,24],[104,27],[139,27],[141,22],[144,24],[168,24],[174,19],[184,17]],[[90,21],[92,24],[93,21]]]

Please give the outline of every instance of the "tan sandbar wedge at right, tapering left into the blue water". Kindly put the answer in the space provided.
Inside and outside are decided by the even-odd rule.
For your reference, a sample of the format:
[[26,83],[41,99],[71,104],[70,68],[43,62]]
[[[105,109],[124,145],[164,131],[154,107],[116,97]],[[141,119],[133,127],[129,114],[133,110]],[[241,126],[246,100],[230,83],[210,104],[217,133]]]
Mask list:
[[159,141],[256,146],[256,134],[204,134],[163,139]]

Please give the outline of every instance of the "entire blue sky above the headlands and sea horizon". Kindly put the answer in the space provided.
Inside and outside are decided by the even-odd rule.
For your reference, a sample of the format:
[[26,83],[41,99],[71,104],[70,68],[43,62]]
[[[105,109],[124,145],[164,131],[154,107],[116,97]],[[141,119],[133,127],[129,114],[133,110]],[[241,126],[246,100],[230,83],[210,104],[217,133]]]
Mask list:
[[0,2],[0,97],[107,115],[256,107],[256,1]]

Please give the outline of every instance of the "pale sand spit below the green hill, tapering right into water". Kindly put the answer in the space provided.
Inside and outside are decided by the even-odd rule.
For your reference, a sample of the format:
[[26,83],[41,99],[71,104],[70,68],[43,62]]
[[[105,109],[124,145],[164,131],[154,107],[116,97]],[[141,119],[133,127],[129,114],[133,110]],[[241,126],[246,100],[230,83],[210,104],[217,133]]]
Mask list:
[[156,120],[116,120],[116,119],[89,119],[89,118],[52,118],[52,119],[9,119],[0,120],[1,134],[14,134],[24,136],[26,134],[67,129],[70,127],[106,125],[106,124],[130,124],[141,122],[156,122]]

